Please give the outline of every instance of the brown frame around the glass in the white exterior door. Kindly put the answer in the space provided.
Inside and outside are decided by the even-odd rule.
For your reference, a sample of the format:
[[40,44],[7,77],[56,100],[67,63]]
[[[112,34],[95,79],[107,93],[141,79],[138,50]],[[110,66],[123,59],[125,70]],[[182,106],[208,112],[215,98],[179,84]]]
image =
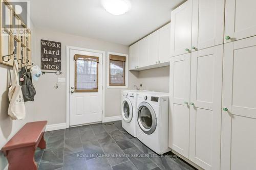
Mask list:
[[[77,60],[81,60],[81,58],[83,58],[83,60],[86,60],[86,58],[92,58],[95,59],[97,62],[97,87],[96,88],[92,88],[92,89],[77,89]],[[99,91],[99,57],[95,57],[95,56],[87,56],[87,55],[79,55],[79,54],[75,54],[75,88],[74,91],[75,92],[98,92]],[[89,61],[89,60],[87,60]]]

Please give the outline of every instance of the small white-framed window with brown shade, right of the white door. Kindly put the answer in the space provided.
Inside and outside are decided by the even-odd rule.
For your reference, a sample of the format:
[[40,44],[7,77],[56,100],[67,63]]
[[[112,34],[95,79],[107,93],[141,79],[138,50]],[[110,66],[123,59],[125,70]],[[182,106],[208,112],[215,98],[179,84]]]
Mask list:
[[109,53],[108,87],[127,88],[127,55]]

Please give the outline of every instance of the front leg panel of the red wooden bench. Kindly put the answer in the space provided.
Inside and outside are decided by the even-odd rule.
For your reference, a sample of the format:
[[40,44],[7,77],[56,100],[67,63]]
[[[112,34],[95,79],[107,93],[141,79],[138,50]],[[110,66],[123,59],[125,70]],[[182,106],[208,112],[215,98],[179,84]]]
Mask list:
[[35,146],[18,148],[7,151],[7,159],[9,163],[8,170],[26,169],[36,170],[35,162]]

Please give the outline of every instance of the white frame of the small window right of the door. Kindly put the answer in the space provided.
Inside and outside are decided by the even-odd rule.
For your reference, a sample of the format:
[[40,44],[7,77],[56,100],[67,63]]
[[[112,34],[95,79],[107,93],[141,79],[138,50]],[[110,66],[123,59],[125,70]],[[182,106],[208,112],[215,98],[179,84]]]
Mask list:
[[[117,56],[123,56],[126,58],[125,61],[125,67],[124,67],[124,83],[125,85],[111,85],[110,84],[110,55],[117,55]],[[127,54],[121,54],[121,53],[114,53],[114,52],[108,52],[108,73],[107,73],[107,88],[128,88],[128,63],[129,63],[129,55]]]

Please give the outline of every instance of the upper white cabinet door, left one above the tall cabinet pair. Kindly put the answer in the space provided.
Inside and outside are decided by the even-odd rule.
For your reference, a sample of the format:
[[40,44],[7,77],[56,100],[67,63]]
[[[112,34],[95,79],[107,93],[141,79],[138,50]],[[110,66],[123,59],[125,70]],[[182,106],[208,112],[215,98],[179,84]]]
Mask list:
[[170,53],[178,56],[191,50],[192,0],[172,11],[170,16]]

